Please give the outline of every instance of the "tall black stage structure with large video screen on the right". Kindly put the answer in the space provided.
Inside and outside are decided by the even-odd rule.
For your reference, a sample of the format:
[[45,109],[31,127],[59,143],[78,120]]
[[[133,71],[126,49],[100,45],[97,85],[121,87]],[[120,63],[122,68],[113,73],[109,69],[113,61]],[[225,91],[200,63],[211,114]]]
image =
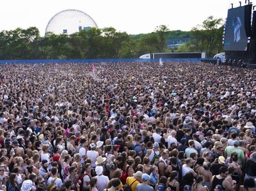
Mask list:
[[227,13],[223,35],[225,64],[256,68],[256,10],[250,1],[247,5],[233,8]]

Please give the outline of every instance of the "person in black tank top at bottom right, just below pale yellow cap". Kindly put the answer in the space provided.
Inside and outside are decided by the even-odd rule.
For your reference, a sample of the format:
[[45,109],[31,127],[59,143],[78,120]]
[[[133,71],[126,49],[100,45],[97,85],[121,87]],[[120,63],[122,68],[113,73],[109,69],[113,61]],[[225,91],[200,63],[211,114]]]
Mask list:
[[236,191],[232,188],[231,184],[229,184],[229,181],[227,181],[226,177],[229,174],[229,170],[227,167],[221,167],[221,169],[218,170],[218,175],[212,176],[211,179],[211,188],[212,190],[219,184],[222,186],[222,190],[230,190],[230,191]]

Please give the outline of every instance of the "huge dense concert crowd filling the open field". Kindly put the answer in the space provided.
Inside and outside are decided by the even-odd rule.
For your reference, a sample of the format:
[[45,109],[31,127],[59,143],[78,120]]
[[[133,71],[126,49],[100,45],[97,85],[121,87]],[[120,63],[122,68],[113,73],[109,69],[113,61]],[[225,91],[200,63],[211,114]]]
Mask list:
[[0,190],[256,190],[255,69],[167,61],[0,73]]

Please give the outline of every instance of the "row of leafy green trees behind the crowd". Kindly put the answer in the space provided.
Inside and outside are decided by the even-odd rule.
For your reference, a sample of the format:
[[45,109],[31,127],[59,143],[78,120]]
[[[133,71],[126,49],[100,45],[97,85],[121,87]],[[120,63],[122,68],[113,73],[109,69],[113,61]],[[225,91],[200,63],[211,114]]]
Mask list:
[[171,52],[167,39],[188,37],[175,52],[223,52],[223,20],[209,16],[191,31],[170,31],[160,25],[148,34],[128,35],[113,27],[91,28],[71,35],[46,33],[36,27],[0,32],[0,60],[138,58],[153,52]]

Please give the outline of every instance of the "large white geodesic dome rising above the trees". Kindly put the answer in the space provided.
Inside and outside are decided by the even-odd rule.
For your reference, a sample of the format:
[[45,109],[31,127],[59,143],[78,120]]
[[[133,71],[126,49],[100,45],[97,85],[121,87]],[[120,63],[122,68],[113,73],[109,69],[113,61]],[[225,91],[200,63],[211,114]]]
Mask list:
[[72,34],[92,27],[98,28],[96,22],[85,12],[79,10],[64,10],[55,14],[48,22],[45,33],[55,35]]

